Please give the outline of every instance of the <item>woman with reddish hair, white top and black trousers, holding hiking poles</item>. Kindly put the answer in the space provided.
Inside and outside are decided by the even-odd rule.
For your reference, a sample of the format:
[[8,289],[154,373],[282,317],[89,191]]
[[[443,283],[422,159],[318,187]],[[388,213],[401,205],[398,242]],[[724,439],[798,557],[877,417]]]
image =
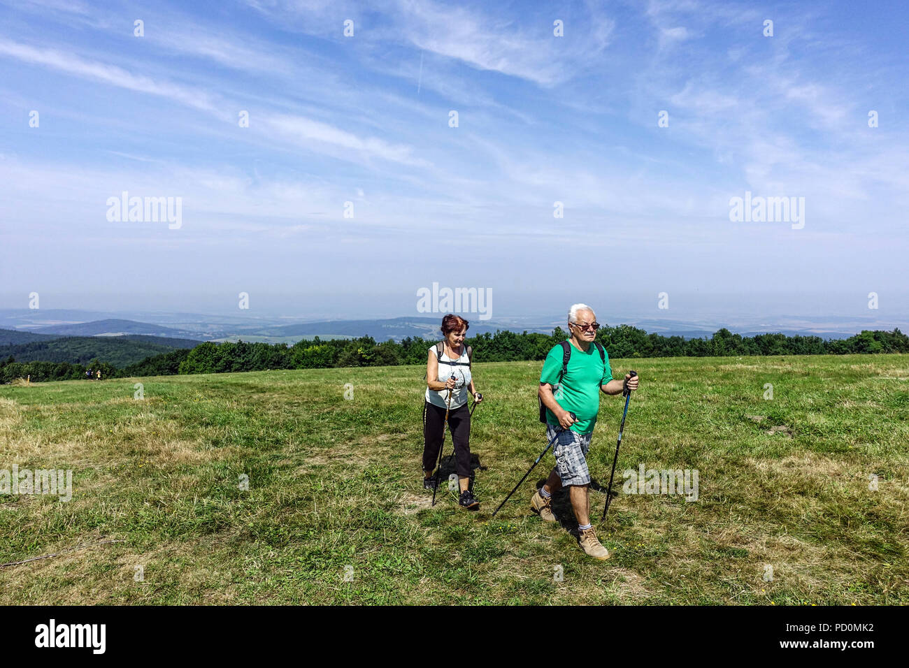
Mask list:
[[480,502],[470,489],[470,411],[467,409],[467,393],[474,396],[474,402],[483,401],[483,395],[476,391],[474,378],[470,373],[472,351],[464,345],[468,323],[464,318],[448,314],[442,319],[442,334],[445,340],[429,349],[426,359],[426,404],[423,428],[423,486],[435,486],[435,461],[445,439],[445,414],[448,415],[448,431],[454,442],[454,460],[461,496],[458,503],[468,510],[479,510]]

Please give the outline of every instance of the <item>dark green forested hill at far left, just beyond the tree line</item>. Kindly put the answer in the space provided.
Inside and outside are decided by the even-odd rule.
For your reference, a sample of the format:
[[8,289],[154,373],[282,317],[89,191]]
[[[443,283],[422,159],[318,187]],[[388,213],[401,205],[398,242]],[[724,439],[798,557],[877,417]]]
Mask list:
[[[8,330],[0,330],[0,333]],[[27,333],[16,333],[27,334]],[[200,342],[158,336],[62,336],[42,338],[25,344],[0,345],[0,359],[10,355],[16,362],[69,362],[86,364],[97,358],[123,368],[146,357],[195,348]]]

